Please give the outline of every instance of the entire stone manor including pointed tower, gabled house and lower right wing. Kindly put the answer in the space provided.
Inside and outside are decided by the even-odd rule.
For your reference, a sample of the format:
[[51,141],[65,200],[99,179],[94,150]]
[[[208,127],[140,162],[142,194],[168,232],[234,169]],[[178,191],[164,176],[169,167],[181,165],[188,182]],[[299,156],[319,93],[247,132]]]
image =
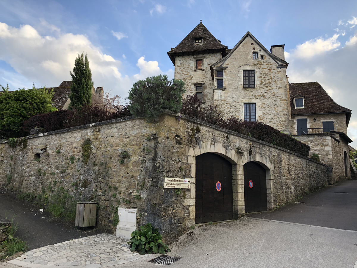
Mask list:
[[331,183],[350,178],[347,137],[351,110],[336,104],[317,82],[288,83],[285,45],[270,51],[250,32],[232,48],[202,24],[167,53],[186,93],[226,116],[261,121],[311,147],[329,165]]

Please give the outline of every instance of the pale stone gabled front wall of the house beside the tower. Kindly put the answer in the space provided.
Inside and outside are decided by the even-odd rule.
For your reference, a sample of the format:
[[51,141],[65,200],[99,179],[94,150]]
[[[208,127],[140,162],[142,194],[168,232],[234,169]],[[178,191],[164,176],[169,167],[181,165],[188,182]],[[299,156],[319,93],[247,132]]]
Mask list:
[[[258,59],[252,58],[253,52],[258,53]],[[226,89],[215,89],[215,105],[227,116],[234,115],[244,119],[244,103],[255,103],[257,121],[290,133],[290,95],[286,69],[277,69],[277,66],[278,64],[247,36],[222,64],[222,67],[226,68],[223,71],[223,84]],[[216,67],[219,68],[221,66]],[[243,88],[243,70],[255,71],[255,88]]]

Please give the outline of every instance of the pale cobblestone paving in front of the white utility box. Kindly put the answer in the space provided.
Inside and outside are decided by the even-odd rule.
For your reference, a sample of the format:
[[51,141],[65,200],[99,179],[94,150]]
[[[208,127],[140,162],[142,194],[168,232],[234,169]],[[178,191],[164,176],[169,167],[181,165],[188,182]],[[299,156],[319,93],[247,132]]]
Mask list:
[[145,256],[131,252],[127,241],[114,235],[97,234],[32,249],[8,263],[29,268],[100,268]]

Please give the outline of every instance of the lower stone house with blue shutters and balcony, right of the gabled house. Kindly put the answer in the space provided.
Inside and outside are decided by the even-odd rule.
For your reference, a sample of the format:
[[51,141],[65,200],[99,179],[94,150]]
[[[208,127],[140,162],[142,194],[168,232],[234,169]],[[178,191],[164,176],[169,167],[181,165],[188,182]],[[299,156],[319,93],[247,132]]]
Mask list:
[[291,134],[311,147],[321,162],[332,167],[331,183],[351,177],[347,126],[351,110],[335,103],[317,82],[292,83],[290,106]]

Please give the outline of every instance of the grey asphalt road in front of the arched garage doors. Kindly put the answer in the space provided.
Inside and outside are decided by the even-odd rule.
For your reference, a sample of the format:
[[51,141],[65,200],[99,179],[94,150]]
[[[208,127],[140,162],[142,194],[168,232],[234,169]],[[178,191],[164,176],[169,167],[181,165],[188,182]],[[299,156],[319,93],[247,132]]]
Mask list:
[[[273,212],[200,225],[170,245],[168,255],[181,258],[170,267],[354,268],[356,195],[357,181],[345,181]],[[149,260],[159,255],[115,267],[157,268]]]

